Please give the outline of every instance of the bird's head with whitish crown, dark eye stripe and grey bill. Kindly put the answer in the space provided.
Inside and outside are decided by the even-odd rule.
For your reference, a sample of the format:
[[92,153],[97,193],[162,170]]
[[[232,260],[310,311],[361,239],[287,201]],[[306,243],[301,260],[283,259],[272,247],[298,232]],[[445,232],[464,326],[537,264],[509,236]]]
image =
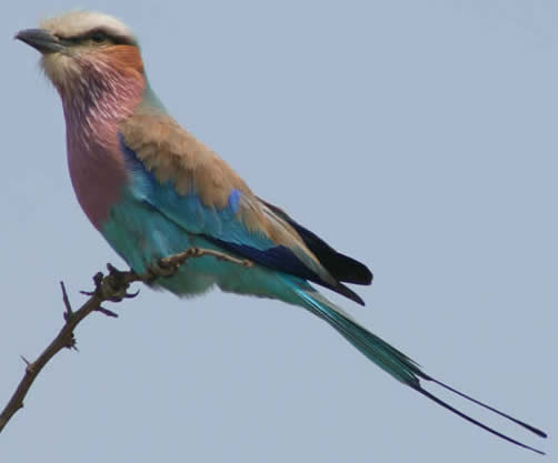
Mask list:
[[16,39],[41,52],[42,68],[62,97],[110,81],[145,81],[136,38],[107,14],[70,11],[42,21],[40,29],[19,31]]

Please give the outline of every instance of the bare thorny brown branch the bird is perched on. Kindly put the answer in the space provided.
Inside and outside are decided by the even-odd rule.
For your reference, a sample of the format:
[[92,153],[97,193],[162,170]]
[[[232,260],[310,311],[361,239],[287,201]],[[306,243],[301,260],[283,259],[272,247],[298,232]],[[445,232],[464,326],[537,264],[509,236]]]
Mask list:
[[120,302],[123,299],[136,298],[139,294],[139,291],[134,293],[128,292],[131,283],[137,281],[153,283],[159,279],[171,276],[188,259],[197,259],[205,255],[210,255],[242,266],[252,265],[251,261],[237,259],[219,251],[199,248],[190,248],[185,252],[163,258],[151,266],[143,275],[138,275],[133,270],[121,272],[111,264],[107,264],[109,274],[104,275],[99,272],[93,276],[94,290],[91,292],[81,291],[82,294],[89,295],[89,299],[76,312],[71,308],[70,299],[68,298],[63,282],[60,282],[62,301],[66,309],[63,313],[66,323],[58,332],[57,336],[47,346],[47,349],[42,351],[34,362],[29,362],[23,355],[21,355],[21,359],[26,362],[26,372],[8,404],[2,410],[2,413],[0,413],[0,432],[2,432],[6,424],[8,424],[16,412],[23,407],[23,399],[44,365],[47,365],[47,363],[64,348],[77,350],[73,330],[76,330],[76,326],[86,316],[88,316],[91,312],[100,312],[111,318],[118,316],[117,313],[102,308],[101,304],[107,301]]

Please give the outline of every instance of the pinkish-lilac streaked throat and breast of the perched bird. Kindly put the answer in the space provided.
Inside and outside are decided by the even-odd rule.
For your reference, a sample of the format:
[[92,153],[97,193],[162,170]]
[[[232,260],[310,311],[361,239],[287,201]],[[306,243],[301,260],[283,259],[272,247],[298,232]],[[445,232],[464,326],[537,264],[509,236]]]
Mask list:
[[101,229],[126,185],[118,130],[140,103],[143,78],[96,63],[79,83],[59,88],[66,117],[71,182],[91,223]]

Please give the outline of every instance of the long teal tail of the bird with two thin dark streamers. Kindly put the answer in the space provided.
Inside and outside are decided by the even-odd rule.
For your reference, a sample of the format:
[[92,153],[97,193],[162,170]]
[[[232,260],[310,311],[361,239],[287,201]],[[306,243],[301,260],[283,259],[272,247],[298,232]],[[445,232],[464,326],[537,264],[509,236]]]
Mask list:
[[547,437],[547,434],[544,431],[538,430],[537,427],[531,426],[530,424],[525,423],[524,421],[517,420],[507,413],[504,413],[490,405],[487,405],[477,399],[474,399],[445,383],[434,379],[432,376],[422,372],[420,366],[409,359],[406,354],[398,351],[386,341],[378,338],[376,334],[369,332],[365,328],[360,326],[355,320],[350,318],[345,311],[340,308],[336,306],[333,303],[328,301],[323,295],[321,295],[313,288],[306,285],[305,288],[297,288],[297,294],[303,300],[303,305],[310,310],[310,312],[315,313],[326,322],[328,322],[331,326],[333,326],[347,341],[349,341],[355,348],[357,348],[362,354],[365,354],[369,360],[376,363],[380,369],[399,380],[401,383],[407,384],[409,387],[412,387],[417,392],[419,392],[425,397],[428,397],[432,402],[438,405],[449,410],[456,415],[462,417],[464,420],[475,424],[488,431],[489,433],[504,439],[505,441],[511,442],[520,447],[528,449],[532,452],[545,454],[540,450],[526,445],[519,441],[516,441],[512,437],[509,437],[490,426],[481,423],[480,421],[475,420],[474,417],[465,414],[464,412],[457,410],[449,403],[442,401],[441,399],[434,395],[431,392],[425,390],[421,384],[422,381],[435,383],[464,399],[467,399],[475,404],[490,410],[491,412],[512,421],[514,423],[527,429],[528,431],[535,433],[540,437]]

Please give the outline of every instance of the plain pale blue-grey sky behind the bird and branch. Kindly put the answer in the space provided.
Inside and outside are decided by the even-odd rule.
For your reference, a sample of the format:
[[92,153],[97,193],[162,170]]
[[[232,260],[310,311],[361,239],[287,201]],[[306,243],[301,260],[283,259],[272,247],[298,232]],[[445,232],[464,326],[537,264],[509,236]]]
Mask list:
[[[116,256],[81,212],[39,56],[0,17],[0,402]],[[375,272],[332,296],[425,370],[542,427],[556,454],[558,7],[551,1],[90,1],[140,39],[176,119],[262,198]],[[525,462],[310,314],[142,289],[77,331],[0,436],[2,462]],[[550,456],[551,459],[552,456]],[[547,457],[548,459],[548,457]],[[535,460],[534,460],[535,461]]]

